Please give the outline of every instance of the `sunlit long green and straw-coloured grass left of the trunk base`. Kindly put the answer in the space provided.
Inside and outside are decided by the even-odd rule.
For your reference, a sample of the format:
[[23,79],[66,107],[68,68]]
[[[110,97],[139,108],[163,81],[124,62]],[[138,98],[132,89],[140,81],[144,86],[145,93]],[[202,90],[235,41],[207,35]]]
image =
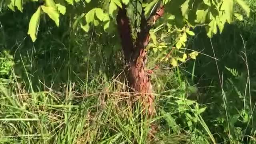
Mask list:
[[[168,118],[164,114],[147,119],[140,102],[131,105],[129,96],[118,94],[122,90],[109,88],[120,84],[114,80],[102,83],[108,87],[103,92],[82,95],[76,93],[72,83],[67,84],[62,94],[28,94],[17,84],[1,85],[2,143],[144,144],[148,141],[150,123]],[[164,136],[162,139],[168,138],[171,143],[188,138],[172,133]]]

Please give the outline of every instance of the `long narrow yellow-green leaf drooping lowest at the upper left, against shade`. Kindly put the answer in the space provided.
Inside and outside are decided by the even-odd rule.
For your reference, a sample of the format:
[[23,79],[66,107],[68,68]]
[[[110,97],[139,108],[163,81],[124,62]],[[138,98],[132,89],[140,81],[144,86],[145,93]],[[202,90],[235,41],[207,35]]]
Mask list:
[[40,15],[41,15],[41,7],[39,6],[36,12],[32,15],[29,26],[28,26],[28,34],[33,42],[36,41],[36,36],[38,32],[38,27],[40,24]]

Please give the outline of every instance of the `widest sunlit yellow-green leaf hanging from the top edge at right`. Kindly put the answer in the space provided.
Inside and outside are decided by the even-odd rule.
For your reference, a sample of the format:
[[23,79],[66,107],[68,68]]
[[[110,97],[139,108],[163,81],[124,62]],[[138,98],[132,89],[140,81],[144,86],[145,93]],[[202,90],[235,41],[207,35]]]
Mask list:
[[233,0],[224,0],[220,10],[224,11],[227,22],[230,24],[233,20]]

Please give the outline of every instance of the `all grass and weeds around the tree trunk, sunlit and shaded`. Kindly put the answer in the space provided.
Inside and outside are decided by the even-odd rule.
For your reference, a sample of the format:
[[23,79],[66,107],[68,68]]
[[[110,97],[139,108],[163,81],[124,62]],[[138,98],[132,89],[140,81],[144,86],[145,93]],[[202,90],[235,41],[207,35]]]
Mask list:
[[[62,19],[54,31],[40,26],[32,43],[27,20],[5,13],[13,20],[0,22],[0,143],[256,144],[254,15],[211,40],[196,29],[184,48],[201,52],[195,60],[162,62],[151,75],[157,114],[148,119],[128,93],[116,37],[62,32],[70,25]],[[150,68],[160,57],[151,54]]]

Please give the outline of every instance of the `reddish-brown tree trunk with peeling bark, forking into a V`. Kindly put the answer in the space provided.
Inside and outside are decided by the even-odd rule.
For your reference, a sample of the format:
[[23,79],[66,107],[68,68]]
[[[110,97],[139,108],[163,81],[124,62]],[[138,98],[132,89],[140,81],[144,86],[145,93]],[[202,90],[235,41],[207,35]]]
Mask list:
[[141,93],[141,98],[144,105],[148,108],[149,115],[152,116],[155,113],[154,108],[154,95],[152,94],[152,85],[150,82],[150,75],[145,70],[146,64],[146,46],[150,42],[149,30],[164,14],[164,6],[160,6],[154,14],[152,14],[148,20],[142,13],[140,33],[137,36],[135,46],[132,41],[130,23],[128,16],[126,15],[126,8],[118,10],[116,17],[118,24],[118,31],[122,41],[122,50],[124,52],[124,58],[128,63],[128,81],[129,86],[135,91]]

